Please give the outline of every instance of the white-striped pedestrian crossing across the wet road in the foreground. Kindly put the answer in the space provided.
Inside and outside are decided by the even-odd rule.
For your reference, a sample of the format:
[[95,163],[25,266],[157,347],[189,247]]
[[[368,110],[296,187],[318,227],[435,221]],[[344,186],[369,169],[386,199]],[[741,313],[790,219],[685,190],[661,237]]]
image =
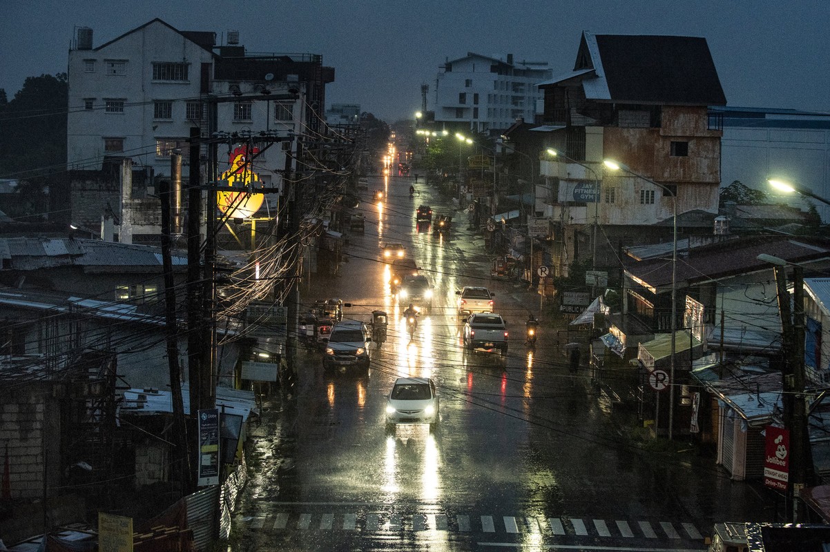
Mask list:
[[244,517],[241,520],[257,530],[365,530],[365,531],[458,531],[461,533],[538,534],[554,536],[594,536],[623,539],[703,540],[696,526],[688,522],[628,521],[570,517],[537,516],[471,516],[458,514],[386,515],[369,512],[364,518],[357,513],[334,514],[278,512],[266,516]]

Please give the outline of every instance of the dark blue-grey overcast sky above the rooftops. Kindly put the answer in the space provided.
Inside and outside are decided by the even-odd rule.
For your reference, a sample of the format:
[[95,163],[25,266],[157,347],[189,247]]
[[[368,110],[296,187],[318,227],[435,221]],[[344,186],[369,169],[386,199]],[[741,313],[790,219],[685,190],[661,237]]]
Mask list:
[[472,51],[573,69],[583,30],[702,36],[732,106],[830,112],[828,0],[40,0],[3,3],[0,88],[66,72],[76,27],[100,46],[155,17],[180,31],[239,31],[249,52],[323,56],[326,103],[360,104],[389,123],[421,107],[438,66]]

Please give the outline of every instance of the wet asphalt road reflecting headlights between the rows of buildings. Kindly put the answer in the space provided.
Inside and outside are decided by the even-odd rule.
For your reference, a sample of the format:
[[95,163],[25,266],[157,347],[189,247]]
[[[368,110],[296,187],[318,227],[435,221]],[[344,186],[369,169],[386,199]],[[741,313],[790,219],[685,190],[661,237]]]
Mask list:
[[[537,296],[490,276],[480,232],[413,178],[369,177],[364,234],[348,262],[302,288],[303,302],[339,297],[344,317],[390,313],[369,376],[327,374],[318,351],[298,354],[295,395],[267,403],[252,429],[254,476],[242,494],[231,550],[706,550],[714,521],[764,520],[754,487],[730,482],[710,458],[649,452],[619,431],[588,375],[570,375],[543,323],[523,345]],[[425,203],[451,214],[448,237],[417,228]],[[420,231],[419,231],[420,230]],[[424,231],[427,230],[427,231]],[[388,287],[384,243],[400,242],[435,288],[432,313],[410,341]],[[466,353],[455,291],[483,285],[508,321],[505,360]],[[544,320],[543,320],[544,322]],[[440,429],[384,431],[396,377],[435,380]]]

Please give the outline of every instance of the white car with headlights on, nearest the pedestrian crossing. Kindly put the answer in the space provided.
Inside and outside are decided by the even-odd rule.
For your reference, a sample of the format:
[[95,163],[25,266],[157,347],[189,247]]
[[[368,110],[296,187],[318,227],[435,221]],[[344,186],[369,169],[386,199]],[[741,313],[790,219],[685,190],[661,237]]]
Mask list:
[[440,415],[435,382],[430,378],[398,378],[386,401],[386,429],[398,424],[429,424],[437,428]]

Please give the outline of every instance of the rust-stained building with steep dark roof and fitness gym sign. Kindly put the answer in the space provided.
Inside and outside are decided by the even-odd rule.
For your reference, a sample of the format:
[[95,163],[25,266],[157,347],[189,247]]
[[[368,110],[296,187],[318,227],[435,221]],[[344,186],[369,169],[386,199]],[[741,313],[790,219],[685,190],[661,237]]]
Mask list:
[[[554,274],[589,262],[618,282],[624,247],[671,241],[675,201],[682,235],[713,233],[683,217],[718,212],[722,130],[709,107],[726,99],[706,39],[583,32],[574,70],[539,87],[534,130],[560,153],[540,153],[535,186],[534,211],[554,226]],[[603,158],[631,172],[603,171]]]

